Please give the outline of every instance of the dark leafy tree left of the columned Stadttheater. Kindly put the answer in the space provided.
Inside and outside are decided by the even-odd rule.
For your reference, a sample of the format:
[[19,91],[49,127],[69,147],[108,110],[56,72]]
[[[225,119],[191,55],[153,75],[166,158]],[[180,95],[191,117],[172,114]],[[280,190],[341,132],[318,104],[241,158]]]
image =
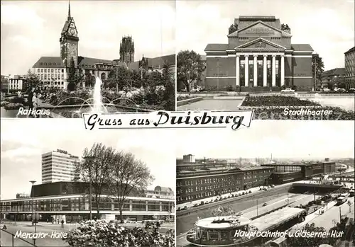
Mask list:
[[190,91],[192,81],[201,81],[202,72],[206,69],[200,54],[184,50],[178,53],[178,90],[186,88]]

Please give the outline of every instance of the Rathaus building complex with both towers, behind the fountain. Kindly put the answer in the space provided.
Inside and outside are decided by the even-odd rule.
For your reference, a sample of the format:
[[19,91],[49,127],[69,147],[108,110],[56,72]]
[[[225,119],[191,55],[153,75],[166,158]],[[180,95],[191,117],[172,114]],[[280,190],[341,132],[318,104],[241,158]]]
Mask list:
[[96,78],[105,81],[109,78],[110,72],[117,67],[125,67],[131,71],[139,71],[142,76],[146,72],[161,71],[165,64],[170,69],[175,68],[175,54],[168,54],[161,57],[142,57],[134,61],[134,42],[131,36],[123,37],[119,45],[119,59],[108,60],[93,57],[80,56],[79,32],[75,25],[74,18],[70,13],[70,3],[67,13],[67,20],[60,33],[60,56],[40,57],[33,65],[33,74],[42,81],[44,88],[67,89],[70,67],[81,72],[82,81],[76,86],[79,88],[92,87]]

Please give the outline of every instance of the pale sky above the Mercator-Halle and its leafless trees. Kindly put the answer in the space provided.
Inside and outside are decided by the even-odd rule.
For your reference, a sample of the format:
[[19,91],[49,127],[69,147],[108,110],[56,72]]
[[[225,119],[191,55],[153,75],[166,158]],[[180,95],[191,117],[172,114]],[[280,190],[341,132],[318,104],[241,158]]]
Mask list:
[[[30,180],[41,182],[41,155],[57,149],[82,156],[84,148],[102,142],[129,151],[145,162],[155,181],[175,190],[175,132],[168,130],[84,130],[78,119],[1,119],[1,199],[30,193]],[[38,184],[37,183],[37,184]]]

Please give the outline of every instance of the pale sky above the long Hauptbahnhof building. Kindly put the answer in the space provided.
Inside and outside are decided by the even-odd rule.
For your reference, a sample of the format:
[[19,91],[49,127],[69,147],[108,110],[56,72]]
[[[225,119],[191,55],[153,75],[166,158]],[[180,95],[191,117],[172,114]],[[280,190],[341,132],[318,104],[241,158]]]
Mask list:
[[354,121],[253,120],[236,131],[177,130],[176,157],[354,158]]

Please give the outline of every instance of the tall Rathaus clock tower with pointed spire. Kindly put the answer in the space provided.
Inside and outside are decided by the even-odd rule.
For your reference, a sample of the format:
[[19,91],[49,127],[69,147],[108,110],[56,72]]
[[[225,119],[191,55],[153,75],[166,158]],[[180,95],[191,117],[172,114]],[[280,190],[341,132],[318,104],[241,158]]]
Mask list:
[[60,57],[65,67],[70,67],[70,61],[73,59],[75,68],[77,68],[77,56],[79,48],[79,38],[77,37],[77,27],[74,18],[70,16],[70,1],[67,13],[67,21],[65,21],[62,33],[60,34]]

